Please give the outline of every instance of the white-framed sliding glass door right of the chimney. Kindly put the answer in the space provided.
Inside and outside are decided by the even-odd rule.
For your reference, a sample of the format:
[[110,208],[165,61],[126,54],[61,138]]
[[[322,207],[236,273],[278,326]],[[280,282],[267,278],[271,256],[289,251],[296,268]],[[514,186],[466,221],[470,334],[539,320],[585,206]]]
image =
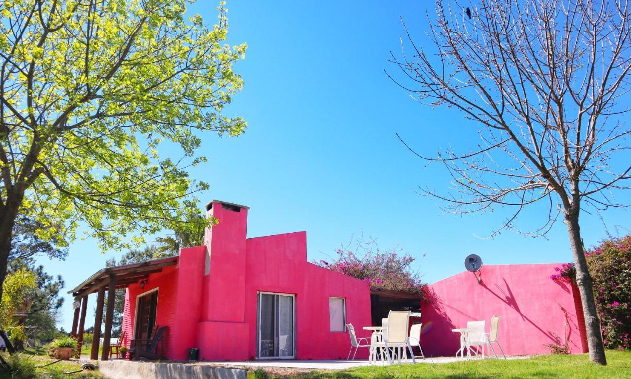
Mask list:
[[257,358],[295,358],[295,297],[259,292]]

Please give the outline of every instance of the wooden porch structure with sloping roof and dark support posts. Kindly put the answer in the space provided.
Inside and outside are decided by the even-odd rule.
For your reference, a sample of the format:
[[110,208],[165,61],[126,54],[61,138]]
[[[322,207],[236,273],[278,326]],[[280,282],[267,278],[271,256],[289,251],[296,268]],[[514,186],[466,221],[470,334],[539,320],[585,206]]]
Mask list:
[[103,349],[101,351],[101,360],[107,361],[107,359],[109,359],[110,340],[112,338],[112,320],[114,319],[114,302],[116,298],[115,290],[126,288],[132,283],[138,283],[143,279],[148,279],[149,274],[159,273],[167,266],[174,266],[177,264],[178,259],[179,256],[174,256],[102,268],[74,288],[74,290],[68,291],[68,293],[72,293],[74,296],[74,320],[71,334],[79,341],[77,351],[81,353],[81,346],[83,345],[83,331],[88,308],[88,295],[95,292],[97,293],[94,337],[92,350],[90,352],[90,359],[96,360],[98,358],[98,344],[101,335],[103,302],[105,299],[105,291],[108,291],[105,329],[103,330]]

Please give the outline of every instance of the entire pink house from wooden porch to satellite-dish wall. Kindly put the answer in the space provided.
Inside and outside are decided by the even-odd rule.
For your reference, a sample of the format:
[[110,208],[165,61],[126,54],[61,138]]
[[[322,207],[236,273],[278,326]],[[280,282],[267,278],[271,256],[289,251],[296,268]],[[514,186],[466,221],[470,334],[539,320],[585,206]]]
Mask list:
[[[97,291],[100,330],[102,293],[114,283],[126,288],[124,343],[166,326],[161,353],[175,360],[188,359],[190,348],[198,348],[205,361],[346,359],[345,324],[368,336],[363,326],[401,308],[422,308],[421,319],[413,321],[424,324],[428,356],[455,354],[459,336],[451,329],[492,315],[503,317],[500,342],[507,354],[545,353],[543,345],[555,334],[567,337],[572,353],[586,351],[580,300],[572,285],[550,280],[555,265],[485,266],[481,284],[471,273],[457,274],[433,283],[432,302],[421,303],[410,295],[371,291],[365,281],[309,263],[306,232],[247,238],[247,206],[215,200],[206,211],[219,224],[206,230],[204,246],[102,269],[70,291],[83,299],[73,332],[83,334],[85,299]],[[106,320],[105,359],[108,332]],[[367,358],[367,350],[358,358]]]

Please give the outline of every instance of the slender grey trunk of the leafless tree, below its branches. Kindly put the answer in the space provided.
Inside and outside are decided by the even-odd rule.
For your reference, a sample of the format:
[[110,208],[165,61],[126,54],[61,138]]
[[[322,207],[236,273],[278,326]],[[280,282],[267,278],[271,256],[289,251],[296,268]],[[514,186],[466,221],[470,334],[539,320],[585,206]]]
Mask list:
[[598,318],[598,310],[596,310],[596,303],[594,302],[592,278],[589,271],[587,271],[587,261],[583,251],[581,229],[579,227],[579,210],[577,206],[577,204],[572,206],[574,209],[570,209],[569,212],[565,213],[565,225],[567,225],[567,231],[570,235],[570,245],[574,253],[576,285],[579,288],[579,293],[581,293],[589,360],[599,365],[606,365],[607,359],[604,356],[603,333],[600,329],[600,319]]

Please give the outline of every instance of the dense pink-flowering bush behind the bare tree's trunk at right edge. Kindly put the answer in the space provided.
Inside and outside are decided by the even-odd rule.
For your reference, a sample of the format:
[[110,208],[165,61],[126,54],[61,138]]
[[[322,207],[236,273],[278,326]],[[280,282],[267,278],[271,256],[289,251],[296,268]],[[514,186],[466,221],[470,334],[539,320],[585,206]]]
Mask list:
[[[631,234],[604,240],[585,252],[601,320],[604,346],[631,350]],[[556,268],[553,280],[574,278],[574,264]]]

